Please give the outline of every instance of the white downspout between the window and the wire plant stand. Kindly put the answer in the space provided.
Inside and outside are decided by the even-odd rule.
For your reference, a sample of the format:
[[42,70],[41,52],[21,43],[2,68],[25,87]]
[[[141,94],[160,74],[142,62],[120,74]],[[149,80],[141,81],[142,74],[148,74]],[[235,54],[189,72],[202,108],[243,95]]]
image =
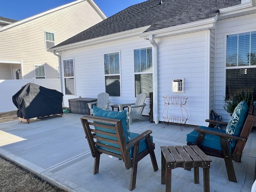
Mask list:
[[158,115],[158,45],[153,35],[149,35],[149,41],[153,45],[153,118],[155,124],[159,123]]

